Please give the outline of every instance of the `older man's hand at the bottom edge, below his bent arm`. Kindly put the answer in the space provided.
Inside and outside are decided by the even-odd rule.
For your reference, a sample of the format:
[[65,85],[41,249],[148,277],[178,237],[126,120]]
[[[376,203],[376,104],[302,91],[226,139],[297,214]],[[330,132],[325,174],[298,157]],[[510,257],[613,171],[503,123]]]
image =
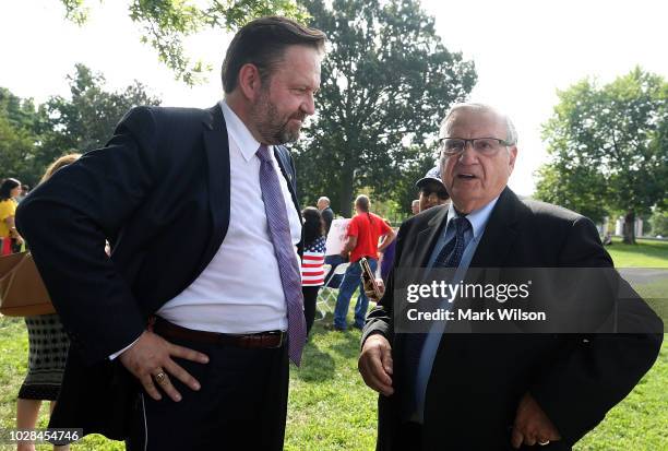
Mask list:
[[513,448],[518,449],[522,443],[529,447],[536,443],[547,444],[559,439],[561,439],[561,436],[554,424],[542,412],[536,400],[526,393],[520,401],[515,414],[515,424],[511,436]]

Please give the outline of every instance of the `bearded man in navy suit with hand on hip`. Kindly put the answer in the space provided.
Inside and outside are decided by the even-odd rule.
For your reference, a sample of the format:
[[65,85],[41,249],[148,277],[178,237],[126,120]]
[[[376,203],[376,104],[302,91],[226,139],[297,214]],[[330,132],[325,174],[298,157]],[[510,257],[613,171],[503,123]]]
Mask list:
[[306,323],[282,144],[314,114],[324,41],[285,17],[248,23],[223,100],[131,110],[21,204],[72,342],[51,427],[130,450],[283,449]]

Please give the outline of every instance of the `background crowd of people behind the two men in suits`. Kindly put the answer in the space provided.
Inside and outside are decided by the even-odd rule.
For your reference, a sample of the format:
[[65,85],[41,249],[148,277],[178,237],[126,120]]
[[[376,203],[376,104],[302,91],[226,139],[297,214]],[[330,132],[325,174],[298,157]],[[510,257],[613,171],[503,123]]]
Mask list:
[[[41,181],[46,181],[58,169],[71,164],[80,156],[81,154],[71,153],[57,158],[47,167]],[[415,190],[418,199],[414,201],[413,214],[445,204],[449,200],[438,167],[433,167],[424,178],[417,180]],[[16,206],[28,192],[28,187],[15,178],[5,178],[0,185],[0,242],[2,242],[3,256],[28,249],[14,224]],[[356,292],[358,299],[354,327],[362,328],[369,308],[359,265],[362,257],[368,258],[377,275],[386,281],[394,259],[396,233],[387,219],[371,213],[370,209],[369,197],[362,194],[356,199],[357,214],[350,223],[354,225],[348,226],[344,250],[335,256],[327,256],[325,247],[332,221],[336,216],[330,205],[330,199],[324,195],[320,197],[317,206],[308,206],[302,210],[301,276],[308,332],[315,319],[319,292],[325,283],[330,287],[339,288],[335,306],[336,314],[331,329],[346,330],[345,317],[350,297]],[[325,272],[323,266],[326,256],[334,264],[326,264],[327,271]],[[342,263],[350,263],[345,275],[337,278],[332,277],[336,265]],[[26,317],[25,323],[29,343],[28,372],[16,395],[16,427],[31,429],[37,423],[41,401],[50,402],[50,411],[55,407],[70,342],[57,313]],[[20,451],[32,449],[34,448],[29,444],[19,447]],[[55,447],[55,449],[67,450],[69,447]]]

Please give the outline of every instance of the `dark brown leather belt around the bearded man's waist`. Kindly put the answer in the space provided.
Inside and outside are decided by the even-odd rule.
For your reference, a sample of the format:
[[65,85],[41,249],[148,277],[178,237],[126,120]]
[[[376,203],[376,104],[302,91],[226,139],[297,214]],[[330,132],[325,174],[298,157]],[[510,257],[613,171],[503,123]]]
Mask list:
[[187,340],[191,342],[229,345],[242,347],[246,349],[263,349],[282,347],[287,341],[287,333],[282,331],[270,331],[248,334],[228,334],[206,331],[195,331],[192,329],[181,328],[164,320],[159,317],[155,318],[153,331],[160,336],[178,340]]

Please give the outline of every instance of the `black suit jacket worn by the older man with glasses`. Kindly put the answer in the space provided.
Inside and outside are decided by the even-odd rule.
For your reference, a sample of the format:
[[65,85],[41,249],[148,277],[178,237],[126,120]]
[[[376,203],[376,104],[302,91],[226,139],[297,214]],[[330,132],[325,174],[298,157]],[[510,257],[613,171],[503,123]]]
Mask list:
[[[448,209],[406,221],[398,233],[394,272],[426,266]],[[606,268],[612,261],[594,224],[573,212],[521,201],[505,189],[497,202],[472,268]],[[393,348],[395,394],[379,397],[379,450],[394,450],[401,422],[402,345],[393,329],[394,275],[368,317],[362,343],[385,335]],[[541,450],[570,450],[651,368],[663,340],[660,319],[642,301],[619,312],[656,334],[444,334],[427,385],[424,450],[510,450],[511,427],[529,392],[563,440]],[[637,329],[635,329],[637,330]],[[475,329],[474,329],[475,332]]]

